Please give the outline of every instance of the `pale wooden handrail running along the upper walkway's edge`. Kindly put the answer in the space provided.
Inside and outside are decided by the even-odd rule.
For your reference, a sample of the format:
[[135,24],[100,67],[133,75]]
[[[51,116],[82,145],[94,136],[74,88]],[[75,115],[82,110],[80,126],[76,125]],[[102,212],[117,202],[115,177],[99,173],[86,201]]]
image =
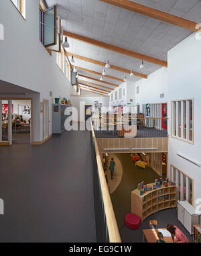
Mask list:
[[92,122],[91,122],[91,128],[92,128],[92,138],[94,140],[94,148],[95,148],[95,153],[96,153],[96,161],[97,161],[97,165],[98,165],[98,176],[100,179],[100,187],[101,187],[101,191],[102,191],[103,204],[104,204],[104,208],[105,208],[105,216],[106,216],[106,220],[107,220],[107,229],[109,232],[109,240],[110,240],[110,243],[121,243],[119,228],[117,226],[117,220],[115,218],[115,212],[113,209],[113,204],[111,202],[111,196],[109,194],[109,189],[107,187],[105,173],[103,171],[103,164],[100,159],[100,153],[98,150],[98,144],[96,142],[96,136],[94,133],[94,128],[92,126]]

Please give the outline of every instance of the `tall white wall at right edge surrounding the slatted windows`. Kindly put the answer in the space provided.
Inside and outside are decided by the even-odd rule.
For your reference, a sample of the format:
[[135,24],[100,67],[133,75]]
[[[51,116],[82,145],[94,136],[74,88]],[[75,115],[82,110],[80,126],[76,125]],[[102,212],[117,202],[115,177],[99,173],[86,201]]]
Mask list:
[[181,159],[176,153],[180,152],[201,163],[200,48],[201,40],[196,40],[195,34],[192,34],[168,52],[169,103],[173,99],[194,98],[194,145],[170,136],[168,171],[170,171],[170,164],[172,164],[194,179],[194,204],[197,198],[201,198],[201,168]]

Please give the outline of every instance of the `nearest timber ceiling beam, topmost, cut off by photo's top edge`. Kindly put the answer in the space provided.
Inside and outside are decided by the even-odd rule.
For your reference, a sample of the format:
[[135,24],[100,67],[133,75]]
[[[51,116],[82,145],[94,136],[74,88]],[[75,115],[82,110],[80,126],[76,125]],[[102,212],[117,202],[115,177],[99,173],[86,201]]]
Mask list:
[[196,22],[192,22],[188,19],[184,19],[182,17],[177,17],[170,13],[165,13],[163,11],[153,9],[145,5],[140,5],[139,3],[133,3],[128,0],[100,0],[100,1],[109,3],[111,5],[115,5],[117,7],[121,7],[123,9],[127,9],[129,11],[134,11],[135,13],[140,13],[142,15],[152,17],[154,19],[159,19],[162,22],[167,22],[172,25],[185,28],[186,30],[191,30],[194,32],[197,32],[198,30],[200,30],[200,28],[196,26],[197,25]]

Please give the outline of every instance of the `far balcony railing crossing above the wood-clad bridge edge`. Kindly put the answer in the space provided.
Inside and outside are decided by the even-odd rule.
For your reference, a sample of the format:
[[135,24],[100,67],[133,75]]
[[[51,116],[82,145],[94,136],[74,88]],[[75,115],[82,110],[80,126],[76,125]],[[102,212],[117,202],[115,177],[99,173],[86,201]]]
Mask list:
[[94,118],[96,138],[167,137],[167,118]]

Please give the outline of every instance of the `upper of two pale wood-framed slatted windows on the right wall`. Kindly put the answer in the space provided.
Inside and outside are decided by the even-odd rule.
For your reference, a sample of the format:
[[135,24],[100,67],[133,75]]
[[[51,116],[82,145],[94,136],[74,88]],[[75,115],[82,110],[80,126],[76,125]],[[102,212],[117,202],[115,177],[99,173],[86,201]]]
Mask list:
[[[176,113],[176,105],[179,105],[181,106],[182,105],[182,101],[185,102],[185,105],[186,105],[186,102],[187,101],[192,101],[192,128],[191,128],[191,119],[189,120],[189,132],[192,130],[192,140],[188,140],[187,139],[187,129],[186,129],[186,138],[184,138],[185,134],[182,134],[182,124],[183,126],[187,126],[187,116],[185,119],[183,119],[183,122],[182,122],[182,110],[180,107],[180,113],[178,112],[178,120],[177,120],[177,113]],[[177,104],[178,102],[178,104]],[[191,104],[191,103],[190,103]],[[174,109],[173,109],[173,105],[174,105]],[[185,110],[186,111],[186,110]],[[191,116],[191,106],[190,106],[190,109],[189,109],[189,114]],[[183,112],[183,116],[184,116],[184,112]],[[184,122],[184,120],[186,120]],[[177,140],[181,140],[183,142],[187,142],[189,144],[194,144],[194,98],[188,98],[188,99],[174,99],[171,101],[171,137],[172,138],[175,138]],[[177,125],[178,124],[178,127]],[[180,128],[181,127],[181,128]],[[177,131],[178,129],[178,131]],[[185,130],[185,128],[183,128]],[[177,133],[178,133],[178,136],[177,136]],[[183,138],[182,138],[182,135],[183,135]],[[191,135],[189,135],[189,137],[191,137]]]

